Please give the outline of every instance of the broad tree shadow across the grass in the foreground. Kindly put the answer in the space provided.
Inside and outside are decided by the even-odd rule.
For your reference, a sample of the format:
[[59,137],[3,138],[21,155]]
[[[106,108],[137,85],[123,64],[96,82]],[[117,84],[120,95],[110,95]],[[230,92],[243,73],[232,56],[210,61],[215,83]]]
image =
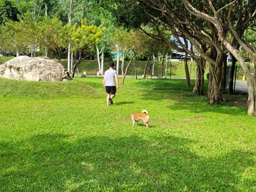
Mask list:
[[[149,129],[147,129],[150,131]],[[254,152],[198,156],[196,141],[175,136],[40,134],[1,141],[1,191],[237,191],[256,189],[242,175]],[[251,191],[252,191],[251,190]]]

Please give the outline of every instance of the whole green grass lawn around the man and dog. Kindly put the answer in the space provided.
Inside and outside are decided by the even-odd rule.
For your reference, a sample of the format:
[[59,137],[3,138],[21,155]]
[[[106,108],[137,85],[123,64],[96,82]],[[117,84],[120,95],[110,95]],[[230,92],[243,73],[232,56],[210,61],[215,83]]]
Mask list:
[[106,107],[100,77],[0,78],[0,191],[256,191],[246,95],[210,106],[185,83],[125,79]]

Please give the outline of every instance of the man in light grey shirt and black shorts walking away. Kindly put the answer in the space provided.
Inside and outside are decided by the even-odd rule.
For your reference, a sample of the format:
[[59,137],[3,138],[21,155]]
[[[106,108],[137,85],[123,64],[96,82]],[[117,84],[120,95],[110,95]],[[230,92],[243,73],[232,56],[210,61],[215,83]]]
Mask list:
[[119,88],[119,83],[118,83],[118,77],[116,74],[116,70],[113,69],[115,66],[115,63],[111,62],[109,63],[109,69],[106,70],[104,73],[104,78],[103,78],[103,87],[106,88],[107,92],[107,106],[110,104],[113,104],[113,98],[115,97],[116,94],[116,86]]

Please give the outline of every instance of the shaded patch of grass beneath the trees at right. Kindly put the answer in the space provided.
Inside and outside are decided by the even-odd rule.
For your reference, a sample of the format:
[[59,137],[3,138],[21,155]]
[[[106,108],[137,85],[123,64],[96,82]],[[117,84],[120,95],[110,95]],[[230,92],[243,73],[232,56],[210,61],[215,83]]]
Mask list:
[[[209,100],[206,95],[193,94],[193,86],[195,80],[191,81],[191,86],[186,87],[186,79],[164,79],[159,82],[159,79],[152,79],[152,81],[143,81],[140,79],[136,82],[137,86],[147,87],[141,94],[143,100],[170,100],[172,110],[187,110],[190,113],[207,113],[214,112],[230,114],[230,115],[244,115],[246,111],[247,94],[241,93],[231,95],[223,93],[225,101],[218,105],[209,105]],[[207,82],[205,83],[207,90]],[[206,91],[205,91],[206,92]],[[152,94],[154,93],[154,94]]]

